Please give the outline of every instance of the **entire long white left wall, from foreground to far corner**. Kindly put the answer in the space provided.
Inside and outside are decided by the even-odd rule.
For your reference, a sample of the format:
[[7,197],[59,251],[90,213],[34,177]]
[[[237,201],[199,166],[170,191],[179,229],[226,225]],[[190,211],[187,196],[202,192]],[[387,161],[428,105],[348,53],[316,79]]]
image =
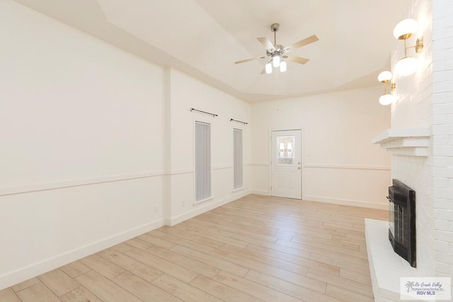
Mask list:
[[[13,1],[0,36],[0,289],[247,194],[229,119],[250,105]],[[213,199],[196,207],[190,107],[219,115]]]

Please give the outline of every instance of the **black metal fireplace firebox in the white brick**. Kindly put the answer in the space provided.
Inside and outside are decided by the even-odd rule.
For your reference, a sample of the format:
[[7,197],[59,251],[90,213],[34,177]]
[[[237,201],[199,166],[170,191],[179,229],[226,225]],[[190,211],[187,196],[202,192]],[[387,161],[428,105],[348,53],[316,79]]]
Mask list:
[[389,240],[396,254],[416,267],[415,191],[394,179],[389,187]]

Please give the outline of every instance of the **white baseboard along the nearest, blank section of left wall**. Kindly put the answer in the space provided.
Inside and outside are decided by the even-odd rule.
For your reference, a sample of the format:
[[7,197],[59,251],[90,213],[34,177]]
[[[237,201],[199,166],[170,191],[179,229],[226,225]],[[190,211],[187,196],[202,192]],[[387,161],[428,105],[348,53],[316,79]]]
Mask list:
[[155,221],[145,223],[142,226],[137,226],[136,228],[132,228],[128,231],[116,234],[115,236],[110,236],[108,238],[98,240],[94,243],[84,245],[80,248],[69,250],[68,252],[50,257],[46,260],[36,262],[33,265],[29,265],[28,267],[22,267],[20,269],[14,270],[13,272],[3,274],[0,276],[0,290],[6,289],[6,287],[13,286],[14,284],[18,284],[30,278],[39,276],[40,274],[44,274],[45,272],[49,272],[52,269],[61,267],[62,265],[67,265],[70,262],[79,260],[95,252],[99,252],[100,250],[104,250],[105,248],[110,248],[113,245],[117,245],[118,243],[122,243],[125,240],[139,236],[142,233],[152,231],[155,228],[164,226],[164,222],[164,219],[157,219]]

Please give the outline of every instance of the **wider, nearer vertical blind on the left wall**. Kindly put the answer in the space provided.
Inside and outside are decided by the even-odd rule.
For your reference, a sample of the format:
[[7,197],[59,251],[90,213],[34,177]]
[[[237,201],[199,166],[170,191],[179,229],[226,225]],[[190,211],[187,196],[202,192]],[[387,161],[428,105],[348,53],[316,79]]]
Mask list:
[[211,197],[211,125],[195,122],[195,202]]

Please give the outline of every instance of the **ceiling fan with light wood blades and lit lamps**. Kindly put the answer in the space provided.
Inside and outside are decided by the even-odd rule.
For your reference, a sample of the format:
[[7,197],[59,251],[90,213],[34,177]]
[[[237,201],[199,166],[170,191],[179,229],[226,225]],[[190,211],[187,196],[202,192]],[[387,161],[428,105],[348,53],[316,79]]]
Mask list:
[[280,29],[280,24],[279,23],[273,23],[270,25],[270,30],[273,31],[274,33],[274,44],[270,42],[270,40],[267,37],[257,37],[258,41],[260,41],[261,44],[266,47],[266,55],[261,56],[261,57],[256,57],[256,58],[251,58],[251,59],[243,59],[241,61],[236,61],[234,64],[241,64],[245,62],[250,62],[256,59],[268,59],[267,64],[265,65],[265,69],[261,72],[261,74],[271,74],[273,67],[279,68],[280,72],[285,72],[287,69],[286,66],[286,61],[292,61],[296,62],[299,64],[306,64],[306,62],[309,62],[309,59],[302,58],[302,57],[296,57],[287,54],[288,52],[291,52],[292,50],[296,50],[299,47],[309,45],[313,42],[318,41],[318,37],[316,35],[311,35],[310,37],[306,37],[304,40],[300,40],[299,42],[295,42],[292,45],[289,45],[287,47],[283,47],[282,45],[277,45],[277,31]]

